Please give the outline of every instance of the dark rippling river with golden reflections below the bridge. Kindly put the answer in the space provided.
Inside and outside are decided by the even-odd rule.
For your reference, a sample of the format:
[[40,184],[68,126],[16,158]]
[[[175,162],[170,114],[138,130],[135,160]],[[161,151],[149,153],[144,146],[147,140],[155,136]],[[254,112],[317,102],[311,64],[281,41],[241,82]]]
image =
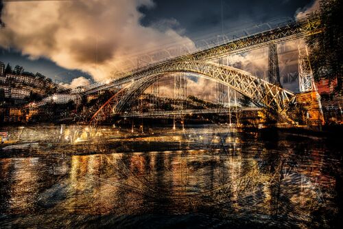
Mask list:
[[342,152],[226,125],[1,127],[1,228],[331,228]]

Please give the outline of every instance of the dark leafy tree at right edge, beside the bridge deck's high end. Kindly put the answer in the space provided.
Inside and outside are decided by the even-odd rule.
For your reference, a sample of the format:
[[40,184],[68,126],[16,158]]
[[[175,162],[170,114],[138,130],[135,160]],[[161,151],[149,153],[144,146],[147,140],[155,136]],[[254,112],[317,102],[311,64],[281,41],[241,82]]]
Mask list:
[[315,80],[338,77],[338,90],[343,76],[343,1],[320,1],[320,19],[324,32],[308,36],[309,58]]

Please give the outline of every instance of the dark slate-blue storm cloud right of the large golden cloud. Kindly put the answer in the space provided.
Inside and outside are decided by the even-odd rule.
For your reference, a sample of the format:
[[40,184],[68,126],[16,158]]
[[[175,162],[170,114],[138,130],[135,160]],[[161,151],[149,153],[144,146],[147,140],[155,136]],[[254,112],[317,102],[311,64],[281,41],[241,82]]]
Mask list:
[[[185,34],[195,39],[198,34],[222,29],[231,32],[276,18],[294,17],[299,8],[311,6],[313,0],[155,0],[155,8],[141,8],[141,23],[149,26],[160,19],[176,19]],[[223,13],[222,13],[223,12]]]

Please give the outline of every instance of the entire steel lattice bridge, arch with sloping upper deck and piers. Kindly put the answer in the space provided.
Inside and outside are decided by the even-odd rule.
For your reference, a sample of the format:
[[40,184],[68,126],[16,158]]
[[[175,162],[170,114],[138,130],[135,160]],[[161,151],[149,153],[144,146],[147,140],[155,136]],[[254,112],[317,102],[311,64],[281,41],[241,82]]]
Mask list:
[[[270,111],[285,115],[289,103],[294,100],[294,93],[280,86],[276,44],[311,36],[323,30],[318,14],[311,14],[309,17],[289,21],[279,28],[266,32],[182,54],[158,63],[148,64],[145,67],[126,72],[120,78],[108,83],[81,91],[81,94],[87,95],[97,91],[119,89],[94,113],[91,123],[97,123],[123,111],[123,107],[130,100],[137,98],[156,80],[164,76],[187,73],[215,80],[244,96],[248,96],[257,107],[266,107]],[[220,58],[224,56],[239,54],[261,47],[269,47],[269,82],[257,78],[257,76],[253,76],[249,72],[220,63]],[[304,58],[300,56],[299,59],[303,60]],[[309,85],[309,87],[301,87],[300,85],[300,89],[303,88],[301,92],[314,90],[313,83],[311,83],[313,82],[313,76],[311,76],[310,67],[305,66],[306,61],[299,61],[299,63],[302,63],[303,66],[299,67],[302,71],[301,74],[299,72],[299,76],[302,77],[299,82]]]

